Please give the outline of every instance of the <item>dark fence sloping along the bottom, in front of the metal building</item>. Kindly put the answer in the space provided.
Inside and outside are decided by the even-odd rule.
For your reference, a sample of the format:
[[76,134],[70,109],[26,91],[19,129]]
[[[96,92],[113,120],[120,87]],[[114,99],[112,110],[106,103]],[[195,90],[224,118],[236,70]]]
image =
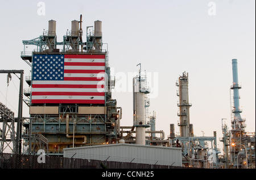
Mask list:
[[[45,159],[44,159],[45,158]],[[177,169],[183,167],[0,153],[0,169]],[[41,162],[41,163],[40,163]]]

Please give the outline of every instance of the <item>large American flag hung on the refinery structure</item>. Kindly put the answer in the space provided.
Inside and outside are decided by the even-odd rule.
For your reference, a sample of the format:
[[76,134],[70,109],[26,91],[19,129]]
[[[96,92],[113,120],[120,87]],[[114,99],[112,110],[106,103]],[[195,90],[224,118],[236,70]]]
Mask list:
[[105,55],[33,55],[31,103],[104,104],[104,74]]

